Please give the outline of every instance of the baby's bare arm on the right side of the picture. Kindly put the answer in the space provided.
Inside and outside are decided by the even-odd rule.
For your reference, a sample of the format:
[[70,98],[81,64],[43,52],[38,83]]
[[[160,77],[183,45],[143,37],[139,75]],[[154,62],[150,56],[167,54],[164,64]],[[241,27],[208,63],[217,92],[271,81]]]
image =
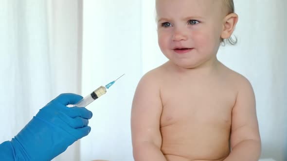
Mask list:
[[238,84],[239,91],[232,112],[232,151],[224,161],[258,161],[261,141],[253,89],[245,78]]

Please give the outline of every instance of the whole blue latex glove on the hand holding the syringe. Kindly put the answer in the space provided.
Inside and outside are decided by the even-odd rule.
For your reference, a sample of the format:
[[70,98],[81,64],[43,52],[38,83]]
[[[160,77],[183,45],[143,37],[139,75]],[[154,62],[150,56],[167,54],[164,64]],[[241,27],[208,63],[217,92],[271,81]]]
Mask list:
[[61,94],[11,140],[0,145],[1,161],[51,161],[90,132],[92,113],[83,107],[69,108],[83,97]]

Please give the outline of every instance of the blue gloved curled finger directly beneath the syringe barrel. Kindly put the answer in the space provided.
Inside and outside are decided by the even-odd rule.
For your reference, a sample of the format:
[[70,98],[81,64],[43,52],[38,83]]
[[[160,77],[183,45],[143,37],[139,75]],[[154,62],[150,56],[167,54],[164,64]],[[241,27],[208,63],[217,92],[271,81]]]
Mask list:
[[65,109],[65,113],[72,118],[82,117],[85,119],[90,119],[93,115],[91,111],[84,107],[67,107],[67,109]]

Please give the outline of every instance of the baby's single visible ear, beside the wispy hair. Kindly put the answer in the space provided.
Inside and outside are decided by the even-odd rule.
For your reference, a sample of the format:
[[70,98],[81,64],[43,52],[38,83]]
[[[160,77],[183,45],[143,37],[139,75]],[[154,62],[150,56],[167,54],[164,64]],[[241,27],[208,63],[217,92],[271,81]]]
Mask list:
[[223,20],[223,23],[224,23],[223,24],[223,30],[221,33],[222,39],[228,39],[232,35],[237,21],[238,21],[238,16],[235,13],[231,13],[231,14],[225,16],[225,18]]

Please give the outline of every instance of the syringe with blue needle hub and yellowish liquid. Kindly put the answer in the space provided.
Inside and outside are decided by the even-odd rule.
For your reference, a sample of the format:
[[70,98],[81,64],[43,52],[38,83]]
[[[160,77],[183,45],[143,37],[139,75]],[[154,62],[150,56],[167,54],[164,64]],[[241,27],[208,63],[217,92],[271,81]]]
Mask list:
[[[123,77],[124,75],[125,74],[123,74],[121,77]],[[118,79],[120,79],[121,77],[119,77]],[[94,90],[90,95],[86,96],[85,98],[81,99],[78,103],[74,104],[73,107],[75,107],[75,106],[77,106],[77,107],[86,107],[86,106],[88,106],[91,102],[93,102],[97,98],[99,98],[99,97],[103,96],[104,94],[106,94],[107,93],[107,89],[110,86],[112,86],[118,79],[108,83],[105,87],[104,86],[100,86],[99,88]]]

